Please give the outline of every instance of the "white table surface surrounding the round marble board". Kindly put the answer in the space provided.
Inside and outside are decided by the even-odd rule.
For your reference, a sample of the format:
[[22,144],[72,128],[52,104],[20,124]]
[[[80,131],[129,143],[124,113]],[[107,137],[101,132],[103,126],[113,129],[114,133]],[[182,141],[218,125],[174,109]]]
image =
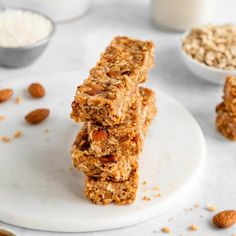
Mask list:
[[[1,85],[13,77],[20,76],[22,79],[28,74],[88,70],[115,35],[151,39],[157,46],[156,66],[151,72],[152,79],[148,86],[159,88],[179,100],[199,122],[206,137],[207,163],[202,178],[194,191],[172,210],[125,229],[59,235],[162,235],[160,229],[163,226],[171,229],[169,235],[177,236],[230,236],[236,233],[236,226],[216,230],[210,223],[214,213],[205,210],[207,205],[214,205],[218,210],[236,209],[236,143],[224,139],[214,127],[214,109],[221,100],[222,87],[199,80],[186,69],[178,51],[181,34],[155,28],[150,23],[148,3],[145,0],[95,0],[84,18],[58,26],[52,43],[34,65],[24,69],[0,69]],[[235,0],[215,0],[215,4],[213,22],[236,23]],[[199,208],[193,207],[196,203],[200,205]],[[186,211],[189,208],[193,209]],[[196,224],[199,230],[189,232],[187,227],[190,224]],[[2,222],[0,226],[13,229],[22,236],[57,235]]]

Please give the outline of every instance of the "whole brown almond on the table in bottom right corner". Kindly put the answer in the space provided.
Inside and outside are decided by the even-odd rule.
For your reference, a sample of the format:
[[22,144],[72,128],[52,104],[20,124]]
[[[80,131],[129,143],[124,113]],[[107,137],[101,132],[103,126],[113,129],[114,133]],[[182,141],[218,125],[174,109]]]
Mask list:
[[236,223],[236,211],[221,211],[213,217],[213,223],[219,228],[227,228]]

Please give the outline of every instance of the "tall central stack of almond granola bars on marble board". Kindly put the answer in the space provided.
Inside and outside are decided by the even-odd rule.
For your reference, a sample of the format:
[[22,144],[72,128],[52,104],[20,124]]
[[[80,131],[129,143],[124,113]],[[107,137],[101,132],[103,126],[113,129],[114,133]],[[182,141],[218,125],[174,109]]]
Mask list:
[[86,175],[96,204],[130,204],[138,188],[138,157],[156,114],[155,94],[140,87],[154,62],[152,42],[115,37],[77,88],[72,118],[83,124],[73,165]]

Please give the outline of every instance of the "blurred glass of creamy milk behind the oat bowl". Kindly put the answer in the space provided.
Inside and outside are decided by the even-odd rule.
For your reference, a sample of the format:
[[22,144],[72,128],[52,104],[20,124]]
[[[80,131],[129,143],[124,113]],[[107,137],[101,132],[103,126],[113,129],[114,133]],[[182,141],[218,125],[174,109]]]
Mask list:
[[155,24],[187,30],[210,22],[214,0],[151,0]]

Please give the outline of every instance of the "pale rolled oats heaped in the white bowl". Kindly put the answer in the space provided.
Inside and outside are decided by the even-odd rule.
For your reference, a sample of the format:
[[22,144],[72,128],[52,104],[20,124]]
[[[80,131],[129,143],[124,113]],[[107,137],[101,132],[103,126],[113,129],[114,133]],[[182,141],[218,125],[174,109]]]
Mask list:
[[194,60],[223,70],[236,70],[236,25],[207,25],[192,29],[182,42]]

